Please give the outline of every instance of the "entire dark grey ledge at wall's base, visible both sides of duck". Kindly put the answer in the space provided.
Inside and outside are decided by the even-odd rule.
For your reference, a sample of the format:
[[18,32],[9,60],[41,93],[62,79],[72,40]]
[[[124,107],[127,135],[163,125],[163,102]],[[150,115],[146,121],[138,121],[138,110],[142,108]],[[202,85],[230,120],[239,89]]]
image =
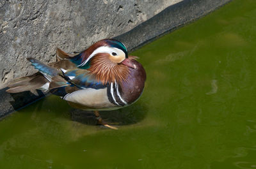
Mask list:
[[[163,36],[163,34],[170,33],[170,31],[207,15],[207,13],[220,8],[229,1],[231,0],[184,0],[166,8],[131,31],[115,38],[124,42],[128,50],[132,51],[159,38],[159,36]],[[6,88],[0,90],[0,118],[45,96],[45,93],[40,91],[36,96],[31,92],[9,94],[5,90]]]

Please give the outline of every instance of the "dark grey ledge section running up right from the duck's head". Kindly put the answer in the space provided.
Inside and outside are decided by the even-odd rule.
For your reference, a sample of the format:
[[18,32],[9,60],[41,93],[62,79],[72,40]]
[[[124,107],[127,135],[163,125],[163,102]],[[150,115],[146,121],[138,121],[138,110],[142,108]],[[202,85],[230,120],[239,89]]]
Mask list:
[[156,40],[159,36],[189,24],[220,8],[231,0],[184,0],[173,4],[131,31],[116,36],[129,51]]

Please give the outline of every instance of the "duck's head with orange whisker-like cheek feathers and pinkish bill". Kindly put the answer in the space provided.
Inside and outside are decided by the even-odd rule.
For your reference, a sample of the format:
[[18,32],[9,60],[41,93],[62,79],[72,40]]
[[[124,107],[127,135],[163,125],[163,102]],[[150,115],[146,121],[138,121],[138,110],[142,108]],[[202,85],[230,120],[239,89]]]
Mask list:
[[97,41],[79,54],[79,58],[77,67],[90,71],[103,84],[125,81],[129,69],[136,69],[132,64],[134,57],[128,56],[124,43],[113,39]]

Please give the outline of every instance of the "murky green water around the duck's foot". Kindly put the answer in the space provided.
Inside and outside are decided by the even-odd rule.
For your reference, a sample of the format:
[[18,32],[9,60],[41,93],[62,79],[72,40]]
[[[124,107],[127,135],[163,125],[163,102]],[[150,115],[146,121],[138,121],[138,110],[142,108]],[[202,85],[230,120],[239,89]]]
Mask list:
[[102,112],[57,96],[0,121],[0,168],[256,168],[256,1],[235,0],[132,55],[147,71],[131,107]]

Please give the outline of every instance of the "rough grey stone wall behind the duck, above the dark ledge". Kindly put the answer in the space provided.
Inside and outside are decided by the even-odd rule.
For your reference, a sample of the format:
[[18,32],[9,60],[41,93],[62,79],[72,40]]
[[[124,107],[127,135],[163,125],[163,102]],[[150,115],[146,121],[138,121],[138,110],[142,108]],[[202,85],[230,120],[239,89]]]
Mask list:
[[0,85],[33,73],[27,57],[84,50],[129,31],[181,0],[0,0]]

